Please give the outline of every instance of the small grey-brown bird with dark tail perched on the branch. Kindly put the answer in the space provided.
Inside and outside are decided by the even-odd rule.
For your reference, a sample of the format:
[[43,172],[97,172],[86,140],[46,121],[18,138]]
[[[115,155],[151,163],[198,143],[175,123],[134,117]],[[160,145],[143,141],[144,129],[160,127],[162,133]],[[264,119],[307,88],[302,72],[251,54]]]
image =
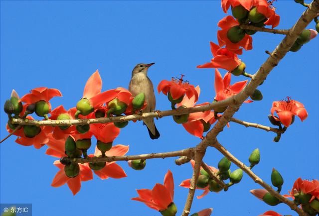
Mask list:
[[[150,64],[137,64],[132,71],[132,78],[129,84],[129,91],[135,97],[140,93],[144,93],[147,107],[143,109],[145,112],[152,112],[155,110],[156,99],[154,93],[153,83],[148,77],[149,68],[155,63]],[[144,124],[147,126],[151,139],[158,139],[160,133],[155,126],[154,118],[143,119]]]

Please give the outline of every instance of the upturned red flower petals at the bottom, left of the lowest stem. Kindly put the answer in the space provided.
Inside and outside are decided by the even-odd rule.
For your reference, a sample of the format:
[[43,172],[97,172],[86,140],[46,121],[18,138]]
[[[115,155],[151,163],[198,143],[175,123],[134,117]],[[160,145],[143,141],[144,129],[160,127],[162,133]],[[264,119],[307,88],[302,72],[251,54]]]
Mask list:
[[157,183],[152,190],[137,190],[139,197],[132,200],[140,201],[148,207],[157,211],[166,210],[174,200],[174,180],[172,173],[168,170],[164,177],[164,185]]

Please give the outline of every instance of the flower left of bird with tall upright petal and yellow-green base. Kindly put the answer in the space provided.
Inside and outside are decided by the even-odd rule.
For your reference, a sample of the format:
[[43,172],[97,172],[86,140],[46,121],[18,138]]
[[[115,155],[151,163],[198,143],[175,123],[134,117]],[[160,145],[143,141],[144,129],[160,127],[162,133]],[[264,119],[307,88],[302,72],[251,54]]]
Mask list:
[[79,114],[90,114],[94,111],[94,109],[99,108],[106,101],[112,100],[117,95],[115,89],[102,93],[101,90],[102,79],[100,77],[99,71],[96,70],[85,84],[83,97],[76,105],[77,113],[75,117],[77,117]]

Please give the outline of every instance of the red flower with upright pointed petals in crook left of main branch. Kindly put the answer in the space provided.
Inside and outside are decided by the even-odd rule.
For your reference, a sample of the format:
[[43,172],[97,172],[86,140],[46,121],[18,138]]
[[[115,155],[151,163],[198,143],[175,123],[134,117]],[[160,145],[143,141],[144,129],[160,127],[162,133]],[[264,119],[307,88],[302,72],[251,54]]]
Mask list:
[[[231,73],[226,73],[224,78],[221,77],[220,72],[215,69],[215,92],[216,92],[216,101],[225,100],[231,96],[237,95],[240,91],[242,91],[246,84],[246,81],[237,82],[233,85],[230,85],[231,81]],[[251,103],[252,101],[248,100],[244,103]]]

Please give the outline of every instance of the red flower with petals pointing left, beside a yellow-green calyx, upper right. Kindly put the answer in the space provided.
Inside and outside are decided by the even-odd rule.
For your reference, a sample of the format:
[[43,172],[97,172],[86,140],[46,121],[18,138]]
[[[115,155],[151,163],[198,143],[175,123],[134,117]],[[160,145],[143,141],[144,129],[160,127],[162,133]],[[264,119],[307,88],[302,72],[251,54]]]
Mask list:
[[213,42],[210,42],[210,50],[214,58],[208,63],[198,65],[197,68],[223,68],[227,71],[233,71],[241,63],[234,52],[227,48],[221,48]]

